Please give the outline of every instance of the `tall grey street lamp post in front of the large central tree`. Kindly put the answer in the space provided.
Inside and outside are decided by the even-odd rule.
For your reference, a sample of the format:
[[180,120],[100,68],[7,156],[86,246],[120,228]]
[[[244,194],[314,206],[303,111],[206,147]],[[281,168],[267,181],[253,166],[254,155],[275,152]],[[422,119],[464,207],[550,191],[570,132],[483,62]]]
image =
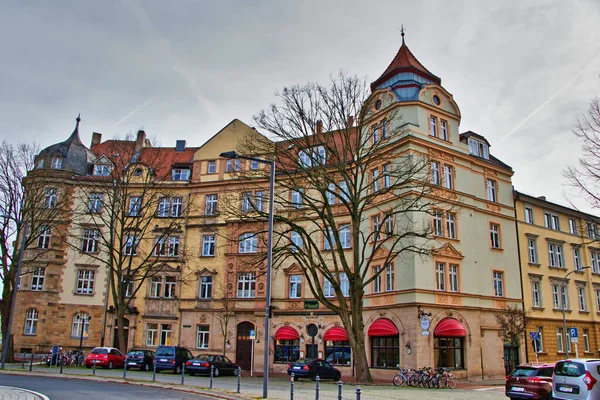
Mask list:
[[224,158],[240,158],[267,164],[271,167],[269,179],[269,225],[267,234],[267,284],[265,291],[265,337],[264,337],[264,366],[263,366],[263,398],[267,398],[269,385],[269,320],[271,318],[271,267],[273,262],[273,198],[275,194],[275,162],[263,160],[262,158],[245,157],[235,151],[227,151],[220,154]]

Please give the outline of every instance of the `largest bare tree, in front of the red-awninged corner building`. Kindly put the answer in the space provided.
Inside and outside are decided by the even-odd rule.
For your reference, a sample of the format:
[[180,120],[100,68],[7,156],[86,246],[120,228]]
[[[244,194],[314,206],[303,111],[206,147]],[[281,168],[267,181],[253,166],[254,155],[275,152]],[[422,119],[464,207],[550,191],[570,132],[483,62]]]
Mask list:
[[[341,319],[357,379],[369,382],[366,289],[397,258],[432,251],[429,154],[406,145],[410,133],[401,116],[393,106],[376,112],[381,100],[357,77],[340,73],[328,85],[293,86],[276,95],[280,104],[255,116],[269,137],[239,146],[241,154],[277,166],[273,265],[302,270],[313,296]],[[250,166],[240,178],[247,186],[237,202],[242,212],[239,206],[229,212],[263,221],[253,232],[264,237],[265,177]],[[252,192],[253,182],[263,189]]]

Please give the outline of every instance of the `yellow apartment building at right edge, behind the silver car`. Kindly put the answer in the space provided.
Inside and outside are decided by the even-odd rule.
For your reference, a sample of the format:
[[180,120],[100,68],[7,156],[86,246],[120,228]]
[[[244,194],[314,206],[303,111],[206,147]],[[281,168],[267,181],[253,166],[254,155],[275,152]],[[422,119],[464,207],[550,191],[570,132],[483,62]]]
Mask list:
[[[598,357],[600,351],[600,248],[593,215],[515,191],[521,255],[523,302],[531,310],[529,332],[539,332],[540,362],[575,352]],[[577,328],[577,345],[564,330]],[[529,336],[528,336],[529,338]],[[577,348],[575,347],[577,346]],[[527,357],[536,354],[527,340]]]

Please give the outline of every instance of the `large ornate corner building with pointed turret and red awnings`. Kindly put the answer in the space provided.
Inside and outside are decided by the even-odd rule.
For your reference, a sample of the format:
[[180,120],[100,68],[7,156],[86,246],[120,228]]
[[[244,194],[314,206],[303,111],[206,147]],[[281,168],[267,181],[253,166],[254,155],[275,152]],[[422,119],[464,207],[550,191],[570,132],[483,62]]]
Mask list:
[[[363,125],[381,135],[401,131],[402,136],[394,138],[399,151],[431,160],[428,179],[433,189],[427,196],[438,206],[414,221],[432,227],[433,255],[401,257],[378,266],[385,273],[365,294],[369,367],[379,377],[389,378],[398,366],[424,365],[451,367],[471,380],[504,376],[504,343],[494,311],[522,302],[513,171],[491,154],[484,136],[459,133],[458,105],[404,41],[371,91],[373,108]],[[402,119],[396,119],[400,115]],[[157,174],[165,179],[155,189],[168,189],[169,195],[160,197],[167,200],[158,200],[156,211],[133,215],[154,227],[145,241],[115,242],[131,248],[126,255],[133,264],[142,254],[155,256],[155,273],[148,279],[119,278],[129,293],[126,344],[120,347],[180,344],[195,354],[224,352],[244,369],[250,369],[253,359],[254,369],[261,370],[260,344],[270,340],[272,371],[286,371],[294,358],[320,356],[339,366],[344,376],[353,374],[347,332],[335,314],[314,301],[306,278],[293,262],[273,273],[271,334],[264,337],[265,276],[249,270],[245,262],[264,250],[262,240],[253,234],[264,228],[264,221],[245,222],[224,212],[231,207],[224,204],[231,194],[241,195],[244,190],[236,172],[260,171],[264,166],[220,157],[242,140],[264,140],[264,136],[234,120],[197,148],[184,142],[174,148],[155,148],[140,132],[135,140],[104,143],[94,133],[88,149],[79,139],[78,125],[68,140],[39,154],[31,173],[46,174],[48,188],[77,214],[57,230],[80,230],[81,242],[66,244],[53,239],[64,237],[59,232],[44,231],[37,234],[48,237],[38,241],[50,250],[45,258],[31,261],[28,254],[37,250],[27,250],[25,265],[30,273],[18,292],[13,326],[17,351],[44,352],[53,344],[75,348],[82,329],[87,349],[119,344],[111,292],[114,277],[102,264],[95,233],[86,232],[91,230],[89,216],[75,210],[97,211],[90,209],[90,196],[82,202],[77,193],[89,192],[85,188],[90,185],[108,190],[111,162],[123,157],[116,150],[123,147],[135,149],[129,161],[141,177],[152,169],[143,165],[144,157],[154,154],[160,160]],[[252,193],[253,206],[263,208],[268,181],[258,179],[264,185]],[[129,196],[135,198],[128,203],[131,217],[144,197],[135,192]],[[241,197],[243,208],[246,203]],[[369,221],[361,230],[372,230],[374,223],[379,226],[383,206],[369,211]],[[348,215],[338,217],[344,221]],[[105,225],[98,228],[100,235],[114,229]],[[167,225],[172,229],[163,238]],[[163,246],[163,240],[168,245]],[[326,240],[321,250],[330,250]],[[313,337],[309,325],[317,329]]]

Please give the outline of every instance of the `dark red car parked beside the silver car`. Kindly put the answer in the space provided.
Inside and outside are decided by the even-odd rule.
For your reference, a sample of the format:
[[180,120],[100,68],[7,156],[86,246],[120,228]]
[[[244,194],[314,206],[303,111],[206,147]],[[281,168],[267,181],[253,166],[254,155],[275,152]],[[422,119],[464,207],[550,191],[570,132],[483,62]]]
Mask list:
[[511,399],[552,398],[554,363],[521,364],[506,377],[505,394]]

